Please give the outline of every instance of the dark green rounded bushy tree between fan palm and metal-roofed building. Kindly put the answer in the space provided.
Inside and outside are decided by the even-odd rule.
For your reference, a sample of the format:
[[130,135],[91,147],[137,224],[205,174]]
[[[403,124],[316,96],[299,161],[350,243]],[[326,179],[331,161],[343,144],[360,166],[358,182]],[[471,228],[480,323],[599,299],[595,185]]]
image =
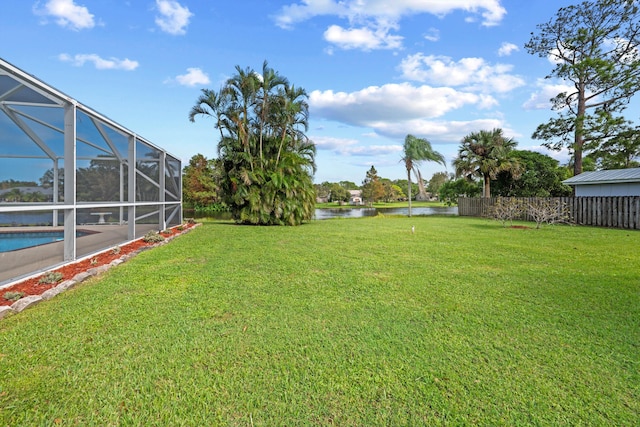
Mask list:
[[571,195],[571,187],[564,185],[567,169],[557,160],[535,151],[513,150],[514,159],[522,166],[515,179],[509,171],[499,172],[492,183],[491,192],[502,197],[563,197]]

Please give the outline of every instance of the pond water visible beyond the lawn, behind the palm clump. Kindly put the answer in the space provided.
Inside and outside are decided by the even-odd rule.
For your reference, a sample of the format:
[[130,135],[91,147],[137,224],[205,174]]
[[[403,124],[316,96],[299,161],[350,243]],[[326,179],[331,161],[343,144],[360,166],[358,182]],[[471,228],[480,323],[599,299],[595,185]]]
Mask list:
[[[409,214],[409,208],[324,208],[316,209],[314,219],[331,219],[331,218],[362,218],[366,216],[376,216],[378,213],[383,215],[403,215]],[[427,215],[458,215],[458,207],[415,207],[411,208],[412,216]],[[209,218],[215,219],[231,219],[229,212],[219,212],[213,215],[207,215]],[[200,218],[194,215],[193,211],[184,210],[185,218]]]

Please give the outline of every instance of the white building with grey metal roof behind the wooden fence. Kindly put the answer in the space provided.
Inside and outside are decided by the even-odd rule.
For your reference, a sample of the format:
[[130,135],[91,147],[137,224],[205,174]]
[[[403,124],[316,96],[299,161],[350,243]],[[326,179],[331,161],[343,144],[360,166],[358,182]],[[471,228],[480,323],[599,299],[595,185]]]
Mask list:
[[583,172],[562,182],[576,197],[640,196],[640,168]]

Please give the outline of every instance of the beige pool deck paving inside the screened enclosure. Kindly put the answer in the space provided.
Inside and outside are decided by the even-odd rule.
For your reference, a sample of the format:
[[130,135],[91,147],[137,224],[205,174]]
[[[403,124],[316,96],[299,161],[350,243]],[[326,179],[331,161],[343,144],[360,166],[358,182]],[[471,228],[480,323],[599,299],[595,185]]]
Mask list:
[[[157,225],[138,224],[136,235],[143,236],[149,230],[157,230]],[[78,225],[78,231],[91,232],[78,237],[76,261],[109,248],[128,243],[127,225]],[[63,227],[3,227],[3,232],[64,231]],[[64,242],[48,243],[40,246],[0,252],[0,289],[10,286],[43,271],[75,261],[64,261]]]

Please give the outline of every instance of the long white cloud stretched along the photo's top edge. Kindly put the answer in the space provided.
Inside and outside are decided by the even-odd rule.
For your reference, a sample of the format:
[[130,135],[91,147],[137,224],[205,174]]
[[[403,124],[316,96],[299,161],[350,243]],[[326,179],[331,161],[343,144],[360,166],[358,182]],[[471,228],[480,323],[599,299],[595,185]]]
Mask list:
[[275,16],[276,24],[291,28],[315,16],[334,15],[347,18],[349,22],[375,20],[377,22],[397,22],[403,16],[430,13],[444,16],[462,10],[482,17],[485,26],[497,25],[507,13],[500,0],[301,0],[283,6]]

